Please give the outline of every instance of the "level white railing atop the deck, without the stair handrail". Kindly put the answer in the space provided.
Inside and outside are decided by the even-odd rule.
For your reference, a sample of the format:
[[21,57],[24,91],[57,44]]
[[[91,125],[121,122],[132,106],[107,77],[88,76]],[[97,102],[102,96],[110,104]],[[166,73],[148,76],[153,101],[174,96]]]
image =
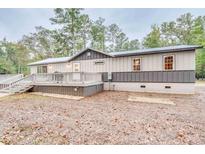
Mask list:
[[66,72],[33,74],[33,83],[92,83],[101,82],[101,73]]

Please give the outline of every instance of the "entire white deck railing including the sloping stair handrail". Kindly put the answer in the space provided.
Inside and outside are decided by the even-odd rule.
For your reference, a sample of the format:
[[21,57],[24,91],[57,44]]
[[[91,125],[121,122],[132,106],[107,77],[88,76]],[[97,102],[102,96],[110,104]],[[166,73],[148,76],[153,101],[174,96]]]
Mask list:
[[101,73],[41,73],[31,74],[21,77],[9,84],[1,84],[0,91],[12,88],[14,86],[33,85],[33,84],[59,84],[59,85],[84,85],[102,82]]

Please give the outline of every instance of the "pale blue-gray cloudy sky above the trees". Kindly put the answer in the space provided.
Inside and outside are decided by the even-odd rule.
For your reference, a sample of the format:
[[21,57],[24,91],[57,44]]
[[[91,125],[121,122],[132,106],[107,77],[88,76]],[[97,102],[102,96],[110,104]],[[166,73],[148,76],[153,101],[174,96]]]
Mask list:
[[[164,21],[175,20],[183,13],[194,16],[205,15],[205,9],[85,9],[91,19],[102,17],[105,24],[116,23],[131,39],[142,39],[150,31],[150,26]],[[35,31],[35,26],[52,28],[49,18],[52,9],[0,9],[0,39],[16,41],[24,34]]]

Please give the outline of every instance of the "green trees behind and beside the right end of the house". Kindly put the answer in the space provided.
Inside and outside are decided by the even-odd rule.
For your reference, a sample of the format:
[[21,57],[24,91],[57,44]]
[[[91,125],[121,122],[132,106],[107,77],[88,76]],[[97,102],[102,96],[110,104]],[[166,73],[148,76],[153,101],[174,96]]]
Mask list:
[[[146,48],[169,45],[205,46],[205,16],[194,18],[190,13],[183,14],[176,21],[164,22],[152,26],[151,32],[144,38]],[[196,52],[196,75],[205,77],[205,50]]]

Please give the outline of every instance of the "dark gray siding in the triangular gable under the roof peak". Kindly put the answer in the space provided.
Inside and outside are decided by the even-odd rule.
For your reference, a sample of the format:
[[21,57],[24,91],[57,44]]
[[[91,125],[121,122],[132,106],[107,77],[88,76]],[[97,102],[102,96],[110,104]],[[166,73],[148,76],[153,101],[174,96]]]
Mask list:
[[[88,52],[90,52],[90,56],[87,55]],[[109,56],[102,54],[102,53],[99,53],[99,52],[96,52],[96,51],[87,50],[86,52],[83,52],[82,54],[80,54],[79,56],[74,58],[72,61],[103,59],[103,58],[109,58]]]

